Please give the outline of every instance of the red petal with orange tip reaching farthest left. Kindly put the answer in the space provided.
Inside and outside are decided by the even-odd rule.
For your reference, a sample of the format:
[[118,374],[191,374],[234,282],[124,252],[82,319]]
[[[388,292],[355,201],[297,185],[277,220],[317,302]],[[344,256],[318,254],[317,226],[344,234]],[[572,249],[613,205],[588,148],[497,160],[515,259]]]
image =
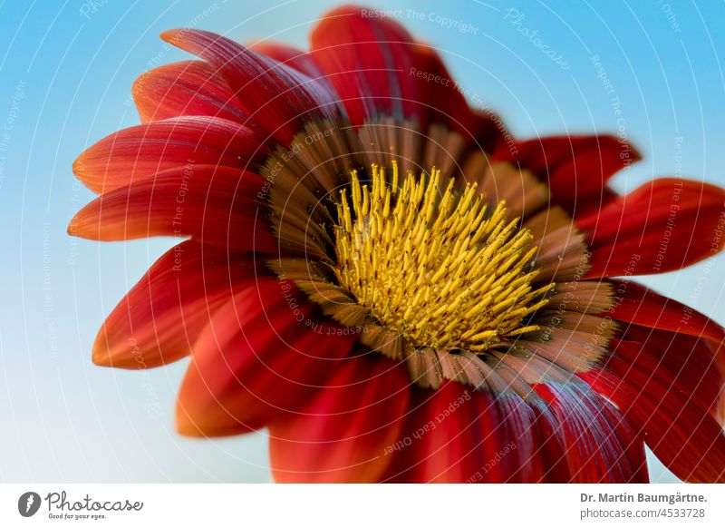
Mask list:
[[226,248],[275,252],[266,208],[257,198],[265,182],[228,167],[169,169],[93,200],[73,217],[68,232],[91,240],[194,237]]

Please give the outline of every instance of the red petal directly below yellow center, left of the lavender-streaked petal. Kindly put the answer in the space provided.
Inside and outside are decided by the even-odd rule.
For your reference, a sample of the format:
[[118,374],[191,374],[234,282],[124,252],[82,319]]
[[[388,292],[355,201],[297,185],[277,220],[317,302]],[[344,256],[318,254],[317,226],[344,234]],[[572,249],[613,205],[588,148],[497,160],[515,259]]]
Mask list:
[[417,389],[386,482],[536,482],[544,467],[536,414],[518,396],[447,382]]

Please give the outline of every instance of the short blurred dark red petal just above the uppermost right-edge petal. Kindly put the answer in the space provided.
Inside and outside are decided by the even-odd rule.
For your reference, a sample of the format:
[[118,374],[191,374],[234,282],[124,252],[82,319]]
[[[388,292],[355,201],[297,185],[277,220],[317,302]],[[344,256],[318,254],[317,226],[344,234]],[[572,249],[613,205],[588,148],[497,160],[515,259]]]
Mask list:
[[551,189],[551,200],[580,215],[598,210],[611,193],[606,183],[640,154],[614,136],[552,136],[502,144],[497,160],[534,172]]

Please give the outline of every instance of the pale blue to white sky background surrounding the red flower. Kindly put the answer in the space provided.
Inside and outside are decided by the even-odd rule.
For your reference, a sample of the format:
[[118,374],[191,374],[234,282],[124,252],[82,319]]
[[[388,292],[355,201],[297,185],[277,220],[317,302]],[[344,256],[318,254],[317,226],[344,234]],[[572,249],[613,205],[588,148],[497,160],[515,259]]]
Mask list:
[[[70,239],[68,220],[92,199],[71,165],[87,145],[138,122],[129,102],[140,73],[187,57],[165,46],[161,31],[195,25],[240,41],[305,46],[332,5],[0,3],[0,481],[269,480],[262,433],[221,441],[174,433],[186,362],[147,372],[92,365],[104,315],[171,243]],[[456,80],[519,136],[623,127],[645,160],[615,177],[617,190],[678,171],[725,185],[725,4],[369,5],[397,11],[413,34],[438,46]],[[526,34],[534,31],[568,67],[532,42]],[[722,324],[722,277],[725,259],[716,258],[643,282]],[[658,467],[652,479],[672,482]]]

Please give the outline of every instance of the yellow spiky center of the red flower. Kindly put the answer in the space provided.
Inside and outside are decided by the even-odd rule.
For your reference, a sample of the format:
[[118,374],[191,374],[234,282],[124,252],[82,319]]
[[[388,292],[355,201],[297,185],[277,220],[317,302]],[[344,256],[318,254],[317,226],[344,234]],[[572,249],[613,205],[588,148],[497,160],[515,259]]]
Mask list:
[[400,183],[394,161],[391,181],[374,164],[371,181],[353,171],[337,205],[340,284],[412,347],[482,351],[538,329],[525,320],[554,284],[532,288],[531,233],[503,202],[489,210],[435,168]]

